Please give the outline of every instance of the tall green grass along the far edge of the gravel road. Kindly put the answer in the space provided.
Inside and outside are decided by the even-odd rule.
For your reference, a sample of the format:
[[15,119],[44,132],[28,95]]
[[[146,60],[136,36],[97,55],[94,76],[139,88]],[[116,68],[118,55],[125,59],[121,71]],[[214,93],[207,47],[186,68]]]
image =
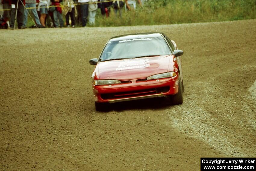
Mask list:
[[[180,24],[256,18],[256,0],[148,0],[134,11],[111,9],[103,17],[98,9],[95,27]],[[63,17],[64,19],[64,17]],[[31,21],[29,21],[29,24]],[[78,26],[78,25],[77,25]],[[92,27],[92,26],[89,26]]]

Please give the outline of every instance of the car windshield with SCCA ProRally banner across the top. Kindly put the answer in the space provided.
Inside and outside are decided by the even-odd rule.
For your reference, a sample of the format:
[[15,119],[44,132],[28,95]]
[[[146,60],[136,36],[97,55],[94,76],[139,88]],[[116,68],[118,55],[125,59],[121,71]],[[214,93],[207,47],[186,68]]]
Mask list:
[[103,50],[100,60],[108,61],[170,54],[170,48],[163,37],[148,37],[110,41]]

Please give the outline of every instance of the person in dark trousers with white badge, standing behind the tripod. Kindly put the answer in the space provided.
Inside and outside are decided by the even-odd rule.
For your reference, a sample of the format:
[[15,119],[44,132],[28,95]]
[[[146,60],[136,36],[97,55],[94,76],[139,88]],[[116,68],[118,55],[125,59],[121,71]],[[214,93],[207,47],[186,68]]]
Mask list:
[[[17,6],[17,3],[18,3],[18,6]],[[23,4],[25,4],[25,0],[23,0]],[[11,21],[10,21],[10,27],[11,27],[11,29],[14,29],[16,9],[17,9],[18,28],[19,29],[23,29],[24,6],[22,5],[20,0],[11,0]]]

